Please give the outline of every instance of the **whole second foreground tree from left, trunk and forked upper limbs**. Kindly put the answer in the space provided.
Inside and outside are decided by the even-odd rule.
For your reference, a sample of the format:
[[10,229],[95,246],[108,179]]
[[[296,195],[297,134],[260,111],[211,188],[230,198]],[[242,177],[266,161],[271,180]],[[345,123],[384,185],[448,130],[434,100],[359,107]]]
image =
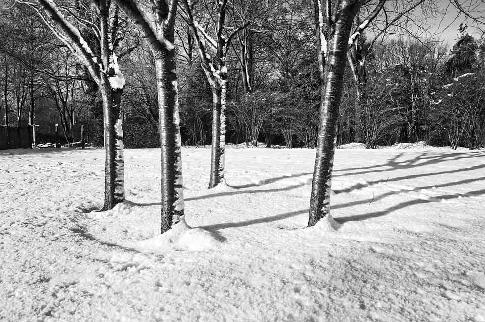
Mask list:
[[134,0],[114,1],[136,23],[155,57],[162,170],[161,232],[164,233],[182,220],[184,215],[182,143],[173,44],[178,0],[158,1],[153,7],[154,20],[150,19]]

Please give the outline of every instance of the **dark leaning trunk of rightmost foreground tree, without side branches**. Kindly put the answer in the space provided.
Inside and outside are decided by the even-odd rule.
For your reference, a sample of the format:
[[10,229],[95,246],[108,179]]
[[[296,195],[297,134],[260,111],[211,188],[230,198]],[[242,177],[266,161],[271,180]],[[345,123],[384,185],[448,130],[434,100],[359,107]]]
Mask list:
[[[335,22],[335,33],[330,42],[330,50],[326,60],[327,73],[321,86],[320,131],[318,133],[308,226],[314,226],[320,219],[330,215],[330,186],[338,106],[342,98],[347,44],[357,9],[358,5],[349,1],[342,1],[340,15]],[[323,70],[322,66],[320,66],[320,70]]]

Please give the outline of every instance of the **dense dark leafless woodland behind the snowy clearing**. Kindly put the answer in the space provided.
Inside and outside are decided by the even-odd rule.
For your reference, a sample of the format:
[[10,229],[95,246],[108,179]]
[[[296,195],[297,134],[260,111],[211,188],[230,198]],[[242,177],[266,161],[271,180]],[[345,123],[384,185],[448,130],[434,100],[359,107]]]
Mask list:
[[[194,6],[200,28],[211,33],[214,9],[205,2]],[[32,8],[16,5],[0,15],[0,123],[35,123],[37,143],[62,144],[80,141],[83,126],[84,141],[103,146],[102,99],[86,68]],[[247,26],[231,39],[225,59],[226,143],[315,147],[320,79],[313,15],[310,2],[234,2],[228,28]],[[125,17],[120,21],[124,144],[158,147],[154,57],[134,24]],[[94,37],[82,17],[75,23],[84,38]],[[450,47],[412,32],[424,23],[417,29],[410,25],[380,37],[372,29],[359,36],[358,71],[346,67],[337,144],[483,147],[485,42],[463,25]],[[211,86],[183,16],[175,30],[182,144],[210,145]]]

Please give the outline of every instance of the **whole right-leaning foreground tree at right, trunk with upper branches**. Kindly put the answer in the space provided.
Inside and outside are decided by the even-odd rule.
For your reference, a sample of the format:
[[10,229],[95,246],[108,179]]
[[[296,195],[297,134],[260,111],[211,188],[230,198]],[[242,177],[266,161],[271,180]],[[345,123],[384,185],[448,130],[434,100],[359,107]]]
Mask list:
[[[315,32],[321,81],[320,128],[308,226],[314,226],[325,216],[330,217],[330,186],[333,169],[334,142],[338,107],[342,98],[347,49],[382,9],[380,0],[370,15],[352,32],[352,22],[362,6],[361,0],[339,0],[332,6],[330,0],[322,7],[314,0]],[[352,32],[352,35],[351,35]]]

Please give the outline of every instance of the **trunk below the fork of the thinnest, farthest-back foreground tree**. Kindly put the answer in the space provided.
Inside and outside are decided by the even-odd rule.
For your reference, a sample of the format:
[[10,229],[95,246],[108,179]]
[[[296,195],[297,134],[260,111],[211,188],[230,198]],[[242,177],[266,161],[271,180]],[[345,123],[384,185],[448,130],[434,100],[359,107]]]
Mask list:
[[212,87],[212,144],[209,189],[224,182],[224,150],[226,137],[226,85],[225,79],[215,80]]

